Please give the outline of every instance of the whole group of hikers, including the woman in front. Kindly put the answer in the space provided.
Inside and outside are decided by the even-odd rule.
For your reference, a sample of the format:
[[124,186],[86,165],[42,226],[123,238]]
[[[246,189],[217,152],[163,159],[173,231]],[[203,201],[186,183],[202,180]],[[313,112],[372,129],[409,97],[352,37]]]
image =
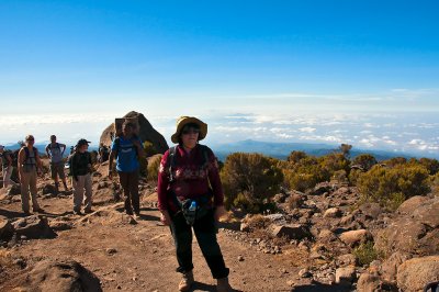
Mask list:
[[[206,135],[207,124],[199,119],[193,116],[178,119],[176,133],[171,136],[172,143],[177,145],[164,154],[158,169],[158,209],[160,221],[170,227],[175,240],[177,271],[182,273],[179,291],[190,291],[194,283],[192,231],[213,278],[217,279],[217,291],[233,291],[228,283],[229,269],[224,262],[216,238],[217,222],[225,214],[218,165],[213,151],[207,146],[199,144]],[[82,214],[82,204],[85,213],[92,212],[92,161],[88,151],[89,143],[87,139],[79,139],[68,158],[75,214]],[[18,158],[22,209],[26,214],[30,214],[30,193],[33,212],[44,212],[36,198],[36,178],[41,175],[42,161],[33,145],[34,137],[27,135]],[[50,136],[50,144],[46,146],[47,156],[50,158],[50,175],[56,189],[61,180],[67,190],[63,162],[65,150],[66,145],[57,143],[55,135]],[[3,147],[0,146],[0,154],[3,151]],[[104,149],[101,151],[100,147],[100,161],[105,159],[104,151]],[[125,212],[135,217],[140,216],[139,158],[144,156],[142,141],[135,134],[135,124],[125,122],[122,125],[122,134],[112,139],[108,154],[108,176],[112,179],[114,170],[117,172],[125,199]],[[113,169],[114,159],[115,169]],[[3,166],[4,161],[8,167],[11,166],[8,158],[2,160]],[[10,176],[8,167],[3,167],[4,177]],[[7,186],[9,181],[7,182],[4,178],[3,183]]]

